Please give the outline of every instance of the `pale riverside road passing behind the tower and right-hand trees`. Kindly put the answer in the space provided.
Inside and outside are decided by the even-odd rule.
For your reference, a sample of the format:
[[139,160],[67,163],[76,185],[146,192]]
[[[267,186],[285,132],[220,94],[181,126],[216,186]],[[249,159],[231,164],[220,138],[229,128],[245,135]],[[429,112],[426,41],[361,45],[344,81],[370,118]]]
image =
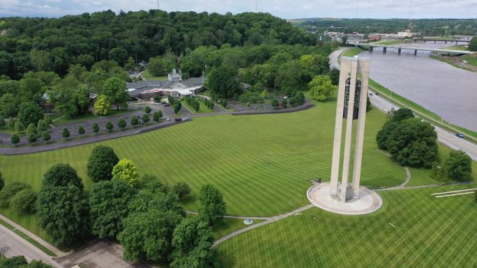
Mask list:
[[[346,49],[346,48],[344,48]],[[339,53],[338,53],[339,52]],[[330,54],[330,66],[337,66],[339,69],[339,63],[338,63],[338,56],[343,52],[343,48],[340,48]],[[390,102],[382,99],[381,97],[377,95],[372,95],[370,96],[370,101],[374,107],[377,107],[378,109],[381,109],[381,111],[391,111],[391,108],[394,107],[394,109],[399,109],[398,106],[391,104]],[[446,129],[442,129],[441,127],[435,126],[436,132],[437,132],[437,139],[441,142],[444,143],[445,145],[448,145],[450,148],[453,148],[454,150],[463,150],[464,152],[467,152],[467,155],[474,159],[474,161],[477,161],[477,144],[471,143],[470,141],[466,141],[465,139],[460,139],[455,136],[455,133],[449,132]]]

